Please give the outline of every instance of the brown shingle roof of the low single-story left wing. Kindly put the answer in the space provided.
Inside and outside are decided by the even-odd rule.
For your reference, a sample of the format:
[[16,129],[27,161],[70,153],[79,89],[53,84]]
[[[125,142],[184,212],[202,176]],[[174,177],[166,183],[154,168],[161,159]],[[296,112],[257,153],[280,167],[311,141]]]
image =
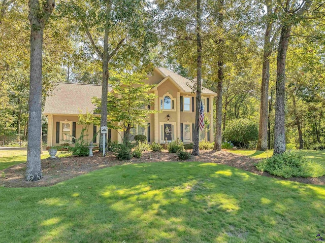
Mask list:
[[[112,88],[108,87],[110,91]],[[102,96],[102,85],[58,83],[46,97],[44,114],[86,114],[96,108],[92,97]]]

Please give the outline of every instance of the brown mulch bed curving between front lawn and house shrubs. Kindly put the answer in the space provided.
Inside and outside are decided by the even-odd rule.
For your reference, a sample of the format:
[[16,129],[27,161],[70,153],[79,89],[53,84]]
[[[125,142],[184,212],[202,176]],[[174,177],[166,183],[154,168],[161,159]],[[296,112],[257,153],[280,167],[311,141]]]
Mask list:
[[[93,157],[66,157],[56,159],[43,159],[42,171],[43,178],[37,182],[26,182],[24,180],[26,163],[17,164],[12,167],[0,170],[0,186],[3,187],[42,187],[51,186],[59,182],[83,175],[89,171],[110,167],[125,163],[146,163],[177,161],[176,154],[163,152],[144,152],[140,159],[133,158],[129,161],[119,161],[112,153],[102,157],[101,153],[94,153]],[[268,172],[261,172],[256,169],[254,164],[257,159],[247,156],[232,154],[226,151],[215,152],[213,150],[200,151],[200,156],[191,156],[189,161],[200,161],[209,163],[218,163],[230,165],[236,168],[253,172],[257,175],[278,178],[270,175]],[[325,177],[319,178],[289,178],[287,181],[296,181],[307,184],[325,185]]]

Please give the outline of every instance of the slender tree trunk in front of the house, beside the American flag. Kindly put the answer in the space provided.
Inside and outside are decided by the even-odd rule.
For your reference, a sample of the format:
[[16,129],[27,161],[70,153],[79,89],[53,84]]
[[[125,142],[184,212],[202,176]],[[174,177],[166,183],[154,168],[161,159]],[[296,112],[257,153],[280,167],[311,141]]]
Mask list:
[[200,119],[200,105],[201,105],[201,93],[202,93],[202,41],[201,41],[201,0],[197,0],[197,98],[196,98],[196,110],[195,110],[195,127],[193,132],[193,150],[192,155],[199,155],[199,119]]

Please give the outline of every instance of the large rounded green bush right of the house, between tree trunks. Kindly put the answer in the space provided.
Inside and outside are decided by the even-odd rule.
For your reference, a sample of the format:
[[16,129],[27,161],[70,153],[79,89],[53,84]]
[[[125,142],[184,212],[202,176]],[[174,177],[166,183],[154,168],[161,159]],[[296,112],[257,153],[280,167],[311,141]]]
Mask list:
[[232,120],[224,129],[223,138],[239,148],[248,148],[249,142],[257,141],[257,124],[248,119]]

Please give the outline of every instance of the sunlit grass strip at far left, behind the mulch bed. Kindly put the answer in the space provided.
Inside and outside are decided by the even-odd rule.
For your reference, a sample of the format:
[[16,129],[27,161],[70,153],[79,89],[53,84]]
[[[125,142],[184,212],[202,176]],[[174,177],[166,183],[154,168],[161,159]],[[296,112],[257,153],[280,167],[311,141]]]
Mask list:
[[[57,153],[59,154],[59,152]],[[60,154],[59,157],[70,156],[70,154]],[[41,159],[49,158],[48,151],[44,150]],[[27,160],[26,150],[0,150],[0,170],[13,166],[15,164],[24,163]]]

